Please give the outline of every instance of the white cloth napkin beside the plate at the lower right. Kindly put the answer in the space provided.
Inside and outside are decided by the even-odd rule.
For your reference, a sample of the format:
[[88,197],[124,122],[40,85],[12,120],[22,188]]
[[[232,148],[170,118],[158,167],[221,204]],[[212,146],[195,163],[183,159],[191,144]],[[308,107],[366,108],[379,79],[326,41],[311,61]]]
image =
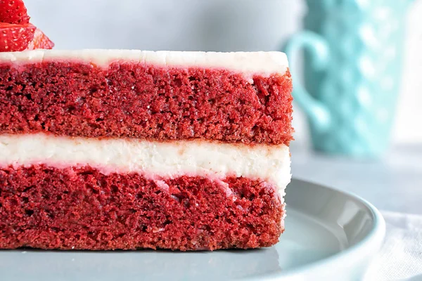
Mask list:
[[365,280],[422,280],[422,216],[383,211],[387,231]]

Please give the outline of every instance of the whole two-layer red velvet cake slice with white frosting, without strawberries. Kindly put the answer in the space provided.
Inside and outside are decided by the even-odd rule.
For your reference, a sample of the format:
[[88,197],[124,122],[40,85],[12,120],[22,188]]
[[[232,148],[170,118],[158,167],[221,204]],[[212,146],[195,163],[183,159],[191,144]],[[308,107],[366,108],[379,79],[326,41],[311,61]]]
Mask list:
[[291,91],[279,52],[0,53],[0,248],[276,244]]

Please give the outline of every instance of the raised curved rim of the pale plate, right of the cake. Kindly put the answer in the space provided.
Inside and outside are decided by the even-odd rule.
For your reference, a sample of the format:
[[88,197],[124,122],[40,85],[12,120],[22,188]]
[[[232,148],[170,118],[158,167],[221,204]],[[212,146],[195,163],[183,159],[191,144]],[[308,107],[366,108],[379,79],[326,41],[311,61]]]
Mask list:
[[[381,244],[383,243],[385,237],[385,220],[381,214],[381,211],[373,206],[373,204],[360,197],[359,195],[354,194],[353,192],[339,190],[324,184],[302,180],[301,178],[292,178],[292,182],[293,181],[303,185],[317,185],[319,188],[330,190],[330,192],[335,192],[337,194],[349,197],[354,201],[360,202],[364,205],[364,207],[366,207],[367,211],[369,211],[369,214],[371,214],[371,217],[373,218],[372,229],[361,241],[353,244],[350,247],[347,247],[346,249],[343,249],[342,251],[338,251],[331,256],[314,261],[312,263],[308,263],[303,266],[298,266],[297,268],[283,270],[281,273],[271,273],[267,276],[260,276],[259,280],[290,280],[290,278],[302,277],[304,274],[312,273],[312,271],[319,270],[321,267],[335,267],[340,264],[355,264],[359,261],[359,259],[362,259],[362,252],[366,253],[367,256],[369,254],[376,254],[376,252],[381,248]],[[281,239],[283,239],[283,235],[281,235]],[[254,280],[254,278],[251,280]]]

